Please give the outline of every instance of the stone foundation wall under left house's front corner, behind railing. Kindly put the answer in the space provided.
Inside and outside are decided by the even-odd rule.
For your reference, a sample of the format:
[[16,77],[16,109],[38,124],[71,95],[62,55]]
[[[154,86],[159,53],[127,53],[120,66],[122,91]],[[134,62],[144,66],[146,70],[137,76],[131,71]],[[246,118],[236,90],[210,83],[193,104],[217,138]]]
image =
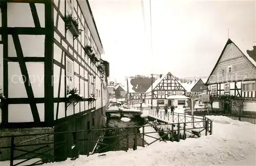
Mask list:
[[[23,128],[23,129],[0,129],[1,136],[5,135],[22,135],[22,134],[35,134],[35,133],[46,133],[46,132],[53,132],[52,127],[42,127],[42,128]],[[30,140],[30,141],[28,141]],[[28,141],[26,143],[23,143],[24,141]],[[20,145],[29,145],[29,144],[40,144],[40,143],[50,143],[53,142],[54,138],[53,135],[33,135],[33,136],[19,136],[15,137],[14,144],[16,146]],[[4,160],[10,160],[10,148],[8,149],[1,149],[1,147],[6,147],[11,145],[11,137],[6,137],[3,139],[0,139],[0,151],[2,154],[0,154],[0,161]],[[25,151],[33,151],[37,148],[44,147],[46,145],[34,145],[34,146],[26,146],[26,147],[17,147],[17,149],[25,150]],[[53,144],[48,145],[48,147],[40,149],[35,151],[36,153],[43,153],[45,151],[50,150],[53,148]],[[24,154],[26,152],[20,152],[18,150],[14,150],[14,157],[19,156],[21,154]],[[53,150],[50,152],[47,152],[47,155],[50,157],[53,155]],[[22,157],[19,157],[17,159],[25,159],[35,156],[36,154],[29,153],[27,155],[24,155]],[[35,158],[45,158],[45,156],[38,155]]]

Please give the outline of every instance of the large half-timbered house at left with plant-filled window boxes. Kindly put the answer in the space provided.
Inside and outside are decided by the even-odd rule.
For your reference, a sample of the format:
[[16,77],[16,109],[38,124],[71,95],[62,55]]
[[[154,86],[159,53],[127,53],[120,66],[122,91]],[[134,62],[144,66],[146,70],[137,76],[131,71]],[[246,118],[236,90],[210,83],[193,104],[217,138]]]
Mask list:
[[[6,97],[1,135],[102,128],[109,63],[101,60],[88,0],[1,0],[0,5],[0,85]],[[70,135],[51,139],[72,142]]]

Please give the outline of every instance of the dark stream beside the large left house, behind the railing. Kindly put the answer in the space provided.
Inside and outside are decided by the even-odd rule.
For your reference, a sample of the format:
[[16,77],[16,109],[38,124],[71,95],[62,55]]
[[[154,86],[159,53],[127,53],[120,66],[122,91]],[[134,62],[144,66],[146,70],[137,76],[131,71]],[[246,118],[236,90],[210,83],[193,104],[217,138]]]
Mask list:
[[[111,117],[106,121],[106,128],[113,127],[129,127],[129,126],[142,126],[143,120],[140,116],[125,115],[124,117],[131,119],[129,122],[123,122],[120,120],[120,115],[111,114]],[[123,135],[123,134],[133,134],[134,129],[118,129],[118,130],[107,130],[105,136]],[[139,128],[137,130],[137,146],[142,146],[142,139],[139,133]],[[101,140],[101,143],[109,145],[98,145],[95,149],[96,153],[104,153],[108,151],[119,151],[126,150],[127,141],[126,136],[110,137]],[[129,149],[133,149],[134,146],[134,135],[129,135]]]

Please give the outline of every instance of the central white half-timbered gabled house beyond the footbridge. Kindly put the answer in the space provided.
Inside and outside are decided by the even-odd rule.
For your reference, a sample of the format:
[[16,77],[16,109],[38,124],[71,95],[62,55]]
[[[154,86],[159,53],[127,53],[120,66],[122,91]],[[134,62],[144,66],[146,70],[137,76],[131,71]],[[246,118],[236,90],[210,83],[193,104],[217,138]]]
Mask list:
[[[153,89],[153,92],[152,92]],[[170,72],[160,75],[153,85],[148,88],[148,90],[145,92],[145,104],[147,105],[153,105],[157,106],[157,103],[159,106],[172,105],[175,104],[174,100],[177,99],[178,96],[184,96],[185,95],[185,88],[181,85],[181,82],[176,79],[174,75],[172,75]],[[152,99],[152,93],[153,93],[153,99]],[[169,96],[176,95],[176,98],[173,99],[167,99]],[[153,100],[153,103],[152,103]],[[183,102],[184,98],[182,98]],[[177,103],[178,104],[178,103]]]

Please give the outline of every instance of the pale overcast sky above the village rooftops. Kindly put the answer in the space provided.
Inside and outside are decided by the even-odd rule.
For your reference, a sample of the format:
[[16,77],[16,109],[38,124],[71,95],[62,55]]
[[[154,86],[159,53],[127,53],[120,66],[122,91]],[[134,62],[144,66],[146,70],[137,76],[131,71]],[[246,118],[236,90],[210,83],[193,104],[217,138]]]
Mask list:
[[229,38],[241,49],[256,41],[254,1],[90,0],[110,62],[110,76],[164,73],[208,76]]

